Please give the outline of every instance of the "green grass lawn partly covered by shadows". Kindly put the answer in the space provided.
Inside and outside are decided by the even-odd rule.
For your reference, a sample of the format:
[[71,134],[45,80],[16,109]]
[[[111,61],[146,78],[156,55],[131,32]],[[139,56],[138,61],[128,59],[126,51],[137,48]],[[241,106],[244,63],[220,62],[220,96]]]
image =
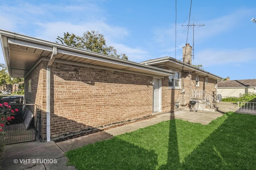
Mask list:
[[256,116],[164,121],[66,153],[78,170],[256,169]]

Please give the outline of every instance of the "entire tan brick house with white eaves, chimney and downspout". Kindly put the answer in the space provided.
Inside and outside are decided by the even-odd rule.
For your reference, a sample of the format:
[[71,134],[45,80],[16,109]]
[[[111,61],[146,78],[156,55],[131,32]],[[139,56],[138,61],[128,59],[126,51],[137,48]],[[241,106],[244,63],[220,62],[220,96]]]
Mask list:
[[8,73],[24,77],[24,99],[40,107],[38,131],[46,141],[189,109],[192,90],[216,92],[222,79],[191,65],[189,45],[185,62],[164,57],[135,63],[4,30],[0,38]]

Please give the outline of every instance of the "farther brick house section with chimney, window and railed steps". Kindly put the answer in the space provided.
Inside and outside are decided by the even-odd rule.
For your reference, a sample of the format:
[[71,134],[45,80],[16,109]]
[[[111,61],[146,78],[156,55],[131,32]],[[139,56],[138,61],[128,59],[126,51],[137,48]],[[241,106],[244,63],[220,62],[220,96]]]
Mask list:
[[[162,83],[162,112],[174,111],[175,108],[190,109],[191,98],[199,100],[199,110],[214,111],[214,101],[216,102],[216,84],[223,78],[216,76],[205,70],[196,68],[192,64],[192,47],[186,44],[183,47],[183,61],[172,57],[162,57],[141,62],[174,70],[176,73],[161,79]],[[170,97],[171,96],[171,97]],[[201,102],[205,100],[204,102]]]

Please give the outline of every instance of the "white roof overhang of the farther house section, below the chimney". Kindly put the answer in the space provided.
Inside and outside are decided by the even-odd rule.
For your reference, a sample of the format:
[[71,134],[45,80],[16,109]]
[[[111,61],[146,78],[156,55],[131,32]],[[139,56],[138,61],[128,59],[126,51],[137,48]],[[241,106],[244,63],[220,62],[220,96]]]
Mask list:
[[212,78],[213,80],[222,80],[223,79],[220,76],[216,76],[210,72],[196,68],[195,66],[192,66],[190,64],[173,59],[172,57],[163,57],[163,58],[159,58],[159,59],[144,61],[144,62],[141,62],[141,64],[148,64],[148,65],[152,65],[152,66],[167,66],[172,70],[176,70],[176,71],[183,70],[184,72],[192,72],[198,76]]

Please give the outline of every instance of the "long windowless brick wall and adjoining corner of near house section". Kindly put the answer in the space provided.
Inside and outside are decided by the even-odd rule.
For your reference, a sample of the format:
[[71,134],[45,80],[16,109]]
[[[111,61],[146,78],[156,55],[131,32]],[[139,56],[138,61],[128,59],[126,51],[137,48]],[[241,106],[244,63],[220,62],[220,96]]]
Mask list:
[[[46,62],[40,63],[25,78],[26,100],[42,109],[42,139],[46,139],[46,66]],[[51,137],[152,115],[152,80],[150,76],[54,63]]]

